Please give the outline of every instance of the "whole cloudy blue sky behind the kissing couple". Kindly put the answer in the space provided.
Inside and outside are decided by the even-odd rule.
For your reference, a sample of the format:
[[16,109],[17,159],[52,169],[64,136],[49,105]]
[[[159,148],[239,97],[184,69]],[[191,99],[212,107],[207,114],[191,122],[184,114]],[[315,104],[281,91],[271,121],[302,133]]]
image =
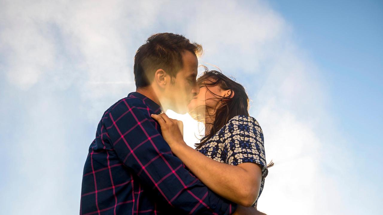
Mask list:
[[275,162],[260,210],[381,214],[382,20],[379,1],[1,1],[0,207],[78,213],[101,114],[144,40],[174,32],[247,89]]

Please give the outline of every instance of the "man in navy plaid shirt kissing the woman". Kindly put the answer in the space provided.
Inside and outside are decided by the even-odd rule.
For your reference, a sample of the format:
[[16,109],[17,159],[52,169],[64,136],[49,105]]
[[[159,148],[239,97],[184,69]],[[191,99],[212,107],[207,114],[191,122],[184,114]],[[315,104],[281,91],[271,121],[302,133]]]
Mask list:
[[151,114],[186,113],[198,94],[199,44],[178,34],[150,36],[136,52],[136,92],[105,111],[85,162],[80,214],[232,214],[174,156]]

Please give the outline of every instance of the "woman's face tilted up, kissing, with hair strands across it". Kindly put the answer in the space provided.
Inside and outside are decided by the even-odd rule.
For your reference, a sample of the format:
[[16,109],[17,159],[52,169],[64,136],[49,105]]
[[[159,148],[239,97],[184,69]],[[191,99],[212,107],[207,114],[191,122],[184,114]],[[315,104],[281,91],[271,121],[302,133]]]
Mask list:
[[199,85],[200,92],[191,99],[188,105],[190,116],[197,120],[205,119],[205,115],[207,114],[206,111],[211,111],[211,113],[213,113],[214,109],[218,108],[218,103],[222,99],[222,96],[227,94],[227,92],[222,90],[219,85],[205,85],[211,82],[211,80],[203,81]]

